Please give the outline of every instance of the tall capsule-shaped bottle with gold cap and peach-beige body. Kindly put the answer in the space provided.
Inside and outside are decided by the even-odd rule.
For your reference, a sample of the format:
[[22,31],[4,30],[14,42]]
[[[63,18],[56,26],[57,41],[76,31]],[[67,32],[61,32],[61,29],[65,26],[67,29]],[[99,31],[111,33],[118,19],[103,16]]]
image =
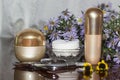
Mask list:
[[90,8],[85,14],[85,59],[97,64],[101,56],[103,13],[98,8]]

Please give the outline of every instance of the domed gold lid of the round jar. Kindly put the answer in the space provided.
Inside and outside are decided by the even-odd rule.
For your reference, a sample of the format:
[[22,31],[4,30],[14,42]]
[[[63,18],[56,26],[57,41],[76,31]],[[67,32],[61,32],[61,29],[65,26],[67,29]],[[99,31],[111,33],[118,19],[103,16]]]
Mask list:
[[28,28],[16,35],[15,46],[44,46],[45,36],[36,29]]

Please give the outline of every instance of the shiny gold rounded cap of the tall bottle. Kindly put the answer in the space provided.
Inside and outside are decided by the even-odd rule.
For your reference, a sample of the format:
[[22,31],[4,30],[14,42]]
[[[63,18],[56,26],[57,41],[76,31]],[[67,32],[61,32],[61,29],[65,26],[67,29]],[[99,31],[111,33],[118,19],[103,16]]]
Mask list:
[[85,13],[85,34],[101,34],[103,12],[98,8],[90,8]]

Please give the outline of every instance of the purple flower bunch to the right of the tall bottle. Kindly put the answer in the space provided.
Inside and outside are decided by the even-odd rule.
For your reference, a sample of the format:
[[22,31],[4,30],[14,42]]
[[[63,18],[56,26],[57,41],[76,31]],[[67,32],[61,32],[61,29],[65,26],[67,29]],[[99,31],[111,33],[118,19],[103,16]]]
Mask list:
[[112,4],[97,6],[104,12],[103,54],[106,60],[120,64],[120,12],[112,9]]

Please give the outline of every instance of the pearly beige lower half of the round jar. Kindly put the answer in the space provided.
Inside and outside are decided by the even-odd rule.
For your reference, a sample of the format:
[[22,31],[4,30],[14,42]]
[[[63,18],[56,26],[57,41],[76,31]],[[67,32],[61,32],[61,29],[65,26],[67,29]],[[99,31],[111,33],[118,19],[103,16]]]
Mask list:
[[45,55],[45,46],[22,47],[15,46],[15,55],[21,62],[37,62]]

